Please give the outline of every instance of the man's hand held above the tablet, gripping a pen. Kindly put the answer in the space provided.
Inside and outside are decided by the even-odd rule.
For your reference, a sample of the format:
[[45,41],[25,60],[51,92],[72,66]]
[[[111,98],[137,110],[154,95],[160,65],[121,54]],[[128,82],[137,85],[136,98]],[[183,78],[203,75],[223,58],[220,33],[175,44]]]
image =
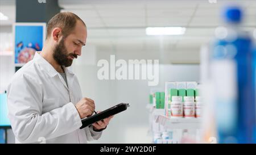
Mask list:
[[92,116],[95,110],[94,100],[82,98],[78,103],[76,103],[76,109],[79,112],[81,119]]

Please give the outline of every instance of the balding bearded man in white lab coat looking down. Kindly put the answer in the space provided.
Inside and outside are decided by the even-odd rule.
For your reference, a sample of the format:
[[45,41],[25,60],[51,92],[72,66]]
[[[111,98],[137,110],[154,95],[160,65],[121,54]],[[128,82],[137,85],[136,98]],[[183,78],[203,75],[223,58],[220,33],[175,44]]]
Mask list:
[[100,138],[112,117],[79,129],[95,103],[82,97],[77,77],[67,68],[81,56],[86,37],[85,23],[71,12],[49,20],[42,51],[15,73],[7,88],[16,143],[87,143]]

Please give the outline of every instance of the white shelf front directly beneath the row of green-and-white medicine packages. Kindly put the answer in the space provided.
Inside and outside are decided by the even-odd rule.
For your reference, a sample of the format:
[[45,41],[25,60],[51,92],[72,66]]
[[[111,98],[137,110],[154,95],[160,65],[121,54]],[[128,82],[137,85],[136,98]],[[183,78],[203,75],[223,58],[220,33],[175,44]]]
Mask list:
[[200,118],[169,118],[164,115],[159,115],[156,123],[163,125],[166,129],[200,129]]

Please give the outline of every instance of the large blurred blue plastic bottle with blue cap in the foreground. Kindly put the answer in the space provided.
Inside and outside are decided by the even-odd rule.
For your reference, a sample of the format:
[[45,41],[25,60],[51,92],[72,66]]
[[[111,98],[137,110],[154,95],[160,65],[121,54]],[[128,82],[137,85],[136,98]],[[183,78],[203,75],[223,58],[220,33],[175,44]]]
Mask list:
[[240,30],[240,7],[227,7],[224,19],[212,55],[218,143],[254,143],[253,39]]

